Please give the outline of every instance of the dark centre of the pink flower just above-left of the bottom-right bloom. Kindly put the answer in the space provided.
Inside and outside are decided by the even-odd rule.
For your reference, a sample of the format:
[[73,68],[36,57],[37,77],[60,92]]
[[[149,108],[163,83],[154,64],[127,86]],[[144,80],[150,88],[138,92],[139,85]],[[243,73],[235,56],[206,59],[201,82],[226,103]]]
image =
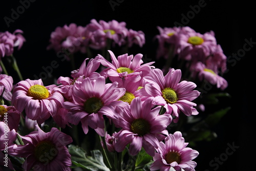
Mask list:
[[133,133],[138,134],[139,136],[143,136],[150,132],[150,123],[145,119],[135,119],[131,124],[131,130]]

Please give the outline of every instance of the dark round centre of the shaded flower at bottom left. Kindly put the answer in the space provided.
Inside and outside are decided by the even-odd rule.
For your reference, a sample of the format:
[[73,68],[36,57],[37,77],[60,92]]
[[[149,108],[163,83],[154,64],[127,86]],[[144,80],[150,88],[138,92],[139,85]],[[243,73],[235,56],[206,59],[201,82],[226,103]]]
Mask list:
[[35,145],[33,154],[37,161],[47,164],[57,156],[58,150],[53,142],[45,140]]

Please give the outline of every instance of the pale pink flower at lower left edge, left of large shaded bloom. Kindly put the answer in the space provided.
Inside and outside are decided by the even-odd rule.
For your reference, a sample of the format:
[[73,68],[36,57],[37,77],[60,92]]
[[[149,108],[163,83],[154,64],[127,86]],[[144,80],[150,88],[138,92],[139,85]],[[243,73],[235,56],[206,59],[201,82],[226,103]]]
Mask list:
[[13,145],[13,141],[16,140],[16,137],[16,131],[14,129],[10,130],[8,123],[0,122],[0,166],[8,165],[8,168],[11,170],[14,169],[12,162],[8,156],[6,158],[5,154],[11,155],[9,153],[9,147]]

